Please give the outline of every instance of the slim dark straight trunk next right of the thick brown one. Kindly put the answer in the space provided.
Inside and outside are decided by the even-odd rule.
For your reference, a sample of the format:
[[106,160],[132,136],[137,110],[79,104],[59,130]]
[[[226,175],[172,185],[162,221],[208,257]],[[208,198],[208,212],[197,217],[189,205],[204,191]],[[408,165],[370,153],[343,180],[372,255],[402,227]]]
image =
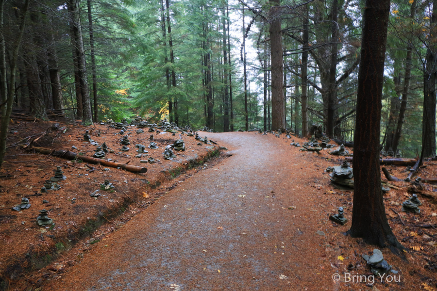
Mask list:
[[[337,0],[334,0],[337,1]],[[302,75],[302,136],[305,137],[308,135],[308,110],[307,110],[307,101],[308,101],[308,8],[306,8],[305,12],[305,21],[303,24],[303,46],[302,46],[302,65],[301,65],[301,75]],[[335,74],[334,74],[335,76]]]

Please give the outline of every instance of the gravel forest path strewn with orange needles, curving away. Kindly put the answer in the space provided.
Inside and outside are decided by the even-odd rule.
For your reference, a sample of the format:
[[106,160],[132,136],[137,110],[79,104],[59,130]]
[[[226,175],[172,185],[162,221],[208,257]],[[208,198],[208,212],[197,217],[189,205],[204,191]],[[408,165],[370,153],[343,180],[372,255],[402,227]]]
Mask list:
[[311,187],[323,178],[317,158],[272,134],[200,135],[233,156],[185,180],[43,290],[338,289],[323,267],[326,236],[338,229],[320,225],[327,215],[311,200],[323,196]]

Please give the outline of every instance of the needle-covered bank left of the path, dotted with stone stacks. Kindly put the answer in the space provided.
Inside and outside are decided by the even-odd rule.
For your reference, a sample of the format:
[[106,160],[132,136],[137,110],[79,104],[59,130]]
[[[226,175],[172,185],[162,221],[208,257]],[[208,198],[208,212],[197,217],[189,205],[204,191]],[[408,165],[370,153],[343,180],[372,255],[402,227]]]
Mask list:
[[[67,131],[62,133],[63,130],[51,130],[52,125],[52,122],[23,122],[11,126],[9,148],[0,172],[0,290],[14,286],[13,282],[23,272],[47,266],[65,250],[74,247],[81,238],[92,235],[99,227],[103,227],[103,233],[108,233],[122,226],[129,219],[126,217],[146,209],[168,190],[175,188],[180,181],[193,172],[202,170],[203,162],[218,155],[218,146],[211,148],[213,145],[198,145],[194,137],[180,135],[179,132],[176,136],[171,136],[170,132],[149,133],[145,128],[144,133],[137,134],[135,127],[129,127],[125,134],[129,135],[130,149],[119,152],[119,141],[123,137],[118,134],[119,129],[107,125],[83,127],[77,124],[61,124],[60,127],[67,127]],[[106,158],[147,167],[147,173],[131,173],[81,161],[68,161],[50,155],[25,152],[19,147],[19,141],[26,137],[42,136],[34,146],[68,149],[80,155],[92,156],[96,146],[84,142],[85,130],[90,131],[91,138],[99,145],[105,142],[109,148],[115,150],[114,153],[107,153]],[[99,131],[100,137],[97,136]],[[154,134],[154,142],[159,148],[153,150],[146,147],[149,156],[134,157],[137,154],[135,144],[148,146],[151,134]],[[165,160],[162,154],[165,146],[179,138],[184,139],[186,150],[175,151],[177,157],[173,161]],[[140,162],[149,157],[159,162]],[[67,179],[58,182],[60,190],[41,194],[41,187],[45,180],[53,177],[57,165],[62,166]],[[175,182],[181,176],[184,177]],[[101,196],[91,197],[90,194],[101,189],[100,184],[106,179],[115,188],[109,191],[100,190]],[[11,210],[20,203],[22,197],[29,199],[31,207],[21,211]],[[38,210],[42,209],[49,210],[48,216],[53,219],[54,225],[36,225]],[[116,224],[113,219],[118,219],[119,223]],[[98,232],[97,237],[101,237],[101,233]],[[91,243],[98,240],[100,239],[91,240]]]

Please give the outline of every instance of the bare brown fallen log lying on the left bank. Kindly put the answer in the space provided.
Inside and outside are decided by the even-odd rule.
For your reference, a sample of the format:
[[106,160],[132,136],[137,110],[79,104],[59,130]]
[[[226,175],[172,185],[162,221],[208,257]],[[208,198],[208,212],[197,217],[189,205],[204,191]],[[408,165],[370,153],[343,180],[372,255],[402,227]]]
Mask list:
[[43,155],[51,155],[59,158],[65,158],[68,160],[82,160],[84,162],[94,163],[94,164],[102,164],[108,167],[118,168],[120,167],[123,170],[133,172],[133,173],[146,173],[147,168],[144,167],[138,167],[128,164],[122,164],[119,162],[109,162],[102,159],[97,158],[91,158],[86,156],[81,156],[76,154],[75,152],[69,151],[69,150],[53,150],[50,148],[44,148],[44,147],[30,147],[29,150],[34,150],[37,153],[43,154]]

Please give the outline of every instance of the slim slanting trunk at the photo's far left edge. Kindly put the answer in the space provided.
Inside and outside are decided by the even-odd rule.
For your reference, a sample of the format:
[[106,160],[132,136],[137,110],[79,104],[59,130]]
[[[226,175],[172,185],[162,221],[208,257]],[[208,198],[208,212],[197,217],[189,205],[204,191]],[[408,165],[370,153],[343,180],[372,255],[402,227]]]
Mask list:
[[[20,23],[18,26],[18,35],[16,41],[12,46],[12,58],[9,63],[9,67],[11,69],[11,77],[9,79],[9,88],[8,88],[9,90],[7,92],[8,95],[7,98],[4,100],[6,101],[6,104],[3,104],[3,106],[6,106],[6,111],[4,114],[1,115],[1,120],[0,120],[0,169],[1,169],[1,165],[3,164],[4,154],[6,153],[6,137],[8,135],[9,119],[12,113],[12,105],[13,105],[12,103],[14,102],[14,96],[15,96],[15,78],[17,73],[16,67],[17,67],[17,60],[18,60],[18,51],[21,45],[21,39],[23,37],[24,27],[26,25],[26,14],[29,9],[29,2],[30,0],[25,0],[23,7],[19,10]],[[1,8],[3,8],[3,4],[4,2],[0,2]],[[3,15],[4,13],[3,9],[1,10],[1,13]],[[1,29],[3,29],[3,27],[1,27]],[[5,44],[3,31],[0,32],[1,32],[0,42]],[[4,50],[3,51],[0,50],[0,54],[2,54],[3,52]],[[6,59],[6,55],[0,58],[0,60],[3,59]],[[8,84],[5,82],[6,78],[2,78],[1,81],[2,81],[2,86],[7,87]]]

